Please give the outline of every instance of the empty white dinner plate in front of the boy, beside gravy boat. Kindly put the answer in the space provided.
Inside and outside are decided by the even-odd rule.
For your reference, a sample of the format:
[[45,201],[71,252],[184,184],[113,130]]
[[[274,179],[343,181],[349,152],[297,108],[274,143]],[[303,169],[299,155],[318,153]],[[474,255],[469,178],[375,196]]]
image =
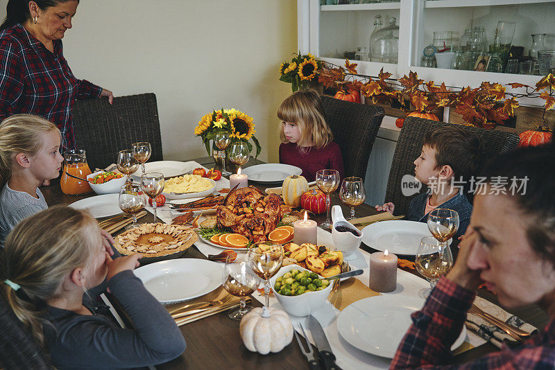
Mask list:
[[[389,220],[369,224],[362,229],[362,243],[379,251],[415,256],[420,240],[432,236],[424,222]],[[447,242],[451,243],[451,239]]]

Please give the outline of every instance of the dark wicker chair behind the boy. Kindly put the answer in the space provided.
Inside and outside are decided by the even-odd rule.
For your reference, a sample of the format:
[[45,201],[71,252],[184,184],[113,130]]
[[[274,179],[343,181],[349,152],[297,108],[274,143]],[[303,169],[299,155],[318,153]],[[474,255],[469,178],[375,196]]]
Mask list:
[[[395,204],[395,215],[406,214],[409,203],[412,200],[412,197],[405,197],[402,195],[402,177],[404,175],[414,175],[413,161],[420,155],[426,132],[440,125],[452,125],[452,123],[430,121],[417,117],[407,117],[404,120],[397,146],[395,146],[395,154],[393,155],[393,163],[389,171],[385,199],[386,202],[393,202],[393,204]],[[477,127],[463,127],[475,132],[481,138],[483,150],[479,159],[478,170],[490,157],[508,152],[518,146],[517,134],[497,130],[485,130]],[[422,186],[422,188],[420,188],[420,193],[425,191],[427,191],[427,187]],[[471,198],[472,197],[469,196],[470,202],[472,202]]]

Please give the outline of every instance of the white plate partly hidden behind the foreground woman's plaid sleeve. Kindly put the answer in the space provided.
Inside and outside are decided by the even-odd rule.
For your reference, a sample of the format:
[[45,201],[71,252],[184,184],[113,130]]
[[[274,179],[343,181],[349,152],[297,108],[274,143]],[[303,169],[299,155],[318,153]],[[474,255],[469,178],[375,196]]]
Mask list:
[[[412,324],[411,313],[420,310],[424,300],[384,294],[368,297],[345,307],[337,318],[341,337],[361,351],[384,358],[393,358],[404,334]],[[466,328],[451,349],[463,344]]]

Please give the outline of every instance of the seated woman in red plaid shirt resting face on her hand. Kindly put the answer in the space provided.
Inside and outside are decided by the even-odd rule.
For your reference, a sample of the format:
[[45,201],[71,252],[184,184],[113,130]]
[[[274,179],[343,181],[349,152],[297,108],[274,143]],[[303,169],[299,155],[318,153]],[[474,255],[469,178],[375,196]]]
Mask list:
[[[555,143],[495,157],[484,169],[484,194],[474,198],[470,225],[452,270],[432,290],[404,336],[391,369],[555,369]],[[499,177],[505,194],[490,192]],[[511,187],[511,179],[525,186]],[[498,180],[497,180],[498,181]],[[450,365],[479,284],[515,308],[536,303],[551,321],[516,346],[473,362]]]

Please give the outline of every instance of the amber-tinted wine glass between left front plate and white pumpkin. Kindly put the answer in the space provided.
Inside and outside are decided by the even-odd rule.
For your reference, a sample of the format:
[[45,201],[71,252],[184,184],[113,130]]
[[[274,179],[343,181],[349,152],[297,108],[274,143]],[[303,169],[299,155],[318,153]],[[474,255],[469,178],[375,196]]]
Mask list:
[[[237,256],[239,257],[239,256]],[[244,315],[253,309],[246,305],[247,296],[260,285],[260,278],[250,268],[249,262],[244,254],[235,259],[235,256],[225,258],[223,267],[223,288],[235,297],[241,297],[239,308],[231,308],[228,316],[232,319],[241,320]]]

